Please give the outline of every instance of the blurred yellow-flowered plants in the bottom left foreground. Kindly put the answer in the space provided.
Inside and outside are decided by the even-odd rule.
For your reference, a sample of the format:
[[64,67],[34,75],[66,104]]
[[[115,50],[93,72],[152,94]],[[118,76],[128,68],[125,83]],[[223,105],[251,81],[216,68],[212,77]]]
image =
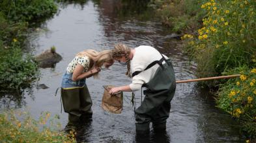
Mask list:
[[1,142],[76,142],[74,132],[71,131],[66,135],[57,131],[61,129],[61,124],[57,123],[55,118],[51,118],[48,112],[42,113],[38,120],[31,118],[27,112],[1,113],[0,140]]

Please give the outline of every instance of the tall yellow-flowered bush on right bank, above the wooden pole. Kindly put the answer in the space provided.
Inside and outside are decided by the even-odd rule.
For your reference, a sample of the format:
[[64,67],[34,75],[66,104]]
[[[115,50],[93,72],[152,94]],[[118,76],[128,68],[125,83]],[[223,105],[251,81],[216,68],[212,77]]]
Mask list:
[[256,1],[215,1],[201,5],[208,14],[187,52],[197,62],[198,76],[220,75],[228,69],[256,65]]

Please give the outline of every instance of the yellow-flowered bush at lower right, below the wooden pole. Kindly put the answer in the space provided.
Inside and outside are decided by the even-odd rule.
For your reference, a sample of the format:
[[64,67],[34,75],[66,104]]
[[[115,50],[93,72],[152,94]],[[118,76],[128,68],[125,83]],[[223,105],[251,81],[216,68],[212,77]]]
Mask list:
[[[221,85],[218,98],[218,107],[231,114],[242,122],[249,137],[256,137],[256,69],[248,67],[239,69],[240,78],[231,79]],[[229,74],[237,72],[236,69]]]

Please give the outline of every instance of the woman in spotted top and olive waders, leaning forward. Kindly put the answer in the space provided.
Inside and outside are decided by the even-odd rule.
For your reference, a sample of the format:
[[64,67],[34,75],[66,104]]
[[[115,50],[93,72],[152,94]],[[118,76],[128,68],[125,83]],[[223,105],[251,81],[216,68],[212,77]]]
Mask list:
[[111,50],[84,50],[79,52],[66,68],[63,76],[61,97],[64,111],[68,113],[68,123],[76,123],[81,117],[92,116],[92,100],[86,78],[96,77],[100,67],[108,68],[113,64]]

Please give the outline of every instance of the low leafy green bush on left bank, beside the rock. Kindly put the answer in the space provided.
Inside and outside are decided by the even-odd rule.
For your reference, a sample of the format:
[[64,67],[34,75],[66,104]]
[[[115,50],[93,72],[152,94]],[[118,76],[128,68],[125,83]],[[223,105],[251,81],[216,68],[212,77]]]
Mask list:
[[1,90],[27,87],[35,80],[38,67],[31,55],[23,56],[14,39],[10,47],[0,45],[0,88]]

